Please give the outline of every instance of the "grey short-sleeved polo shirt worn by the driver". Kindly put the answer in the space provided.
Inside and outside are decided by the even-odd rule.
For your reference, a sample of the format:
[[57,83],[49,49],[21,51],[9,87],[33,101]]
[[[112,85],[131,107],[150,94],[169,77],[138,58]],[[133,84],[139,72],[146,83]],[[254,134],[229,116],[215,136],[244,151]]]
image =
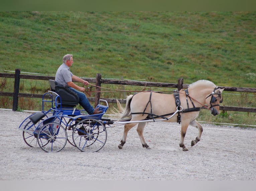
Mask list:
[[66,64],[61,64],[56,72],[55,81],[60,85],[68,86],[68,82],[72,82],[73,74],[70,72]]

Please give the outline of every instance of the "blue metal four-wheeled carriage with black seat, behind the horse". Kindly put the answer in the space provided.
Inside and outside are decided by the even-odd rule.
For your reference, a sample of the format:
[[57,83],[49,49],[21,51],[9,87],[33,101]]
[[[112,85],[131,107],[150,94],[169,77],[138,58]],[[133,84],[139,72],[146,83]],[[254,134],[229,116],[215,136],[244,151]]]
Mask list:
[[[84,109],[76,108],[79,103],[76,93],[53,80],[49,82],[51,91],[42,96],[42,111],[28,116],[19,126],[25,143],[30,147],[39,145],[45,152],[58,152],[67,142],[83,152],[99,151],[107,140],[102,116],[109,107],[108,102],[100,99],[96,108],[102,112],[89,115]],[[45,110],[47,104],[50,109]]]

